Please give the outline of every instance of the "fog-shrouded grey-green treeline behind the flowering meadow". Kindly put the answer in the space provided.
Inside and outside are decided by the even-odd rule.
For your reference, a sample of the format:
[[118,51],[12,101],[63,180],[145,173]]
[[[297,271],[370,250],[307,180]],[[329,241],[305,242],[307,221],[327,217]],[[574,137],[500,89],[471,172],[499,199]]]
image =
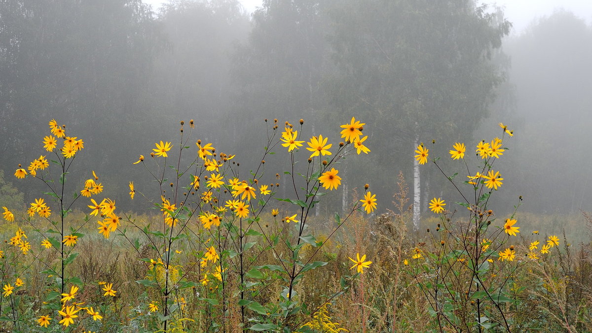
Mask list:
[[[419,142],[437,140],[430,154],[460,179],[452,144],[472,157],[503,121],[516,136],[497,162],[500,209],[519,194],[529,211],[587,209],[592,176],[579,146],[592,124],[592,30],[559,12],[502,49],[510,28],[499,9],[471,0],[265,0],[252,15],[237,0],[170,1],[157,14],[140,0],[0,1],[0,169],[15,183],[56,118],[85,141],[75,164],[88,174],[72,170],[73,183],[82,189],[95,170],[105,196],[137,209],[146,205],[131,204],[130,180],[158,196],[131,163],[160,140],[178,145],[181,120],[195,119],[192,141],[237,154],[247,177],[272,119],[299,129],[303,118],[301,140],[322,134],[336,146],[353,116],[372,152],[343,164],[347,181],[318,211],[340,211],[364,183],[384,211],[399,170],[413,182]],[[284,150],[266,161],[264,183],[288,166]],[[434,196],[458,199],[437,169],[419,170],[422,211]],[[25,201],[38,196],[33,183],[19,186]]]

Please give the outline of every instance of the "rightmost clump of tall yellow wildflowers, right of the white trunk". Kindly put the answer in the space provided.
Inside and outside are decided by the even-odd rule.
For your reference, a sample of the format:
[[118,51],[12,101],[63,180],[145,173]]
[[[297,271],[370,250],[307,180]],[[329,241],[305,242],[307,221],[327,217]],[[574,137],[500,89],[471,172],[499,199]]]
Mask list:
[[[517,294],[523,289],[515,282],[517,270],[536,262],[559,239],[549,237],[548,244],[530,244],[526,253],[517,253],[516,235],[520,232],[515,218],[519,202],[510,216],[497,216],[490,208],[490,196],[503,186],[497,160],[503,157],[506,140],[513,136],[504,124],[499,124],[501,138],[480,141],[475,146],[477,161],[470,161],[464,143],[455,143],[450,158],[462,164],[462,172],[448,174],[439,164],[440,157],[430,156],[430,149],[420,144],[416,150],[419,164],[432,162],[445,176],[463,201],[455,202],[461,211],[450,208],[442,198],[433,198],[429,208],[438,214],[440,222],[430,232],[433,244],[417,244],[410,256],[408,273],[430,304],[430,314],[437,319],[440,331],[479,331],[502,329],[510,331],[513,308],[519,303]],[[435,147],[435,141],[432,141]],[[459,174],[468,179],[458,181]],[[448,205],[448,207],[446,207]],[[466,214],[466,215],[465,215]],[[462,217],[457,217],[461,215]],[[499,222],[501,218],[501,221]],[[525,258],[523,260],[522,258]]]

